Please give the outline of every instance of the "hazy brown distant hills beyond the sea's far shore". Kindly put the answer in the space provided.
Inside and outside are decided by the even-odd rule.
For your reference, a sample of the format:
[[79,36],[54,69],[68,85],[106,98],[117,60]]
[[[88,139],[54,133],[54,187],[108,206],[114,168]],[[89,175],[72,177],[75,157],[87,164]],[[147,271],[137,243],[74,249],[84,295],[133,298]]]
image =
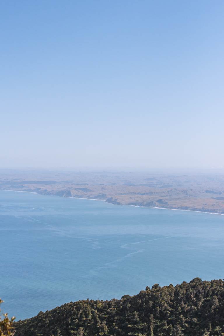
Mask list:
[[224,175],[3,172],[0,189],[224,214]]

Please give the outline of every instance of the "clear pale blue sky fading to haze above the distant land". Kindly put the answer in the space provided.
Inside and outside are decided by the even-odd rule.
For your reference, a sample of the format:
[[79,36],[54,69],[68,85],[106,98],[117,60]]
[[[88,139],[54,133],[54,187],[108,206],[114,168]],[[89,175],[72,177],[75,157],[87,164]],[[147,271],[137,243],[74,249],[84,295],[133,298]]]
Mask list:
[[1,167],[224,166],[223,0],[0,2]]

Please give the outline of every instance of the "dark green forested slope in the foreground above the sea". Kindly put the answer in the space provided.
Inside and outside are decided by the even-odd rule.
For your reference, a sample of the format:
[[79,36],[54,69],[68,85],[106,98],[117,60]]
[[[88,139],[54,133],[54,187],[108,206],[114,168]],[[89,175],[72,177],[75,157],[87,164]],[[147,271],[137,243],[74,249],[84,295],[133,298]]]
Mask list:
[[14,326],[15,336],[221,336],[224,281],[195,278],[121,300],[70,302]]

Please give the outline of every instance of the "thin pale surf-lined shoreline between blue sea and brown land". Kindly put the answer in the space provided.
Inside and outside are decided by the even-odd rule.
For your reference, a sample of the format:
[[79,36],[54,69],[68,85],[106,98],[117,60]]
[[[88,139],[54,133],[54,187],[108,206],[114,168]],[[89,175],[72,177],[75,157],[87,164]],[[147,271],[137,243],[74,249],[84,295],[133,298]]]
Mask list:
[[[23,191],[23,190],[8,190],[8,189],[0,189],[2,191],[10,191],[10,192],[16,192],[16,193],[31,193],[36,195],[42,195],[42,196],[58,196],[58,195],[46,195],[46,194],[38,194],[33,191]],[[107,202],[106,200],[97,200],[94,198],[83,198],[83,197],[72,197],[72,196],[58,196],[63,198],[75,198],[78,200],[89,200],[89,201],[101,201],[106,202],[113,205],[121,205],[121,206],[131,206],[136,208],[151,208],[151,209],[162,209],[162,210],[173,210],[173,211],[190,211],[190,212],[197,212],[197,213],[207,213],[210,215],[221,215],[224,216],[224,213],[218,213],[218,212],[210,212],[210,211],[199,211],[199,210],[185,210],[185,209],[174,209],[174,208],[160,208],[160,207],[144,207],[143,205],[134,205],[134,204],[114,204],[112,202]]]

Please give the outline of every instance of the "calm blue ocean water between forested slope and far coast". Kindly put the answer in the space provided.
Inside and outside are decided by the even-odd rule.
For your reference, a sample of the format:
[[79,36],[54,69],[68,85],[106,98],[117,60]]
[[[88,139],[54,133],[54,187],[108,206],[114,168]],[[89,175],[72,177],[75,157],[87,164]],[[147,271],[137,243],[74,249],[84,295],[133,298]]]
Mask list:
[[0,191],[0,297],[16,319],[224,277],[224,216]]

